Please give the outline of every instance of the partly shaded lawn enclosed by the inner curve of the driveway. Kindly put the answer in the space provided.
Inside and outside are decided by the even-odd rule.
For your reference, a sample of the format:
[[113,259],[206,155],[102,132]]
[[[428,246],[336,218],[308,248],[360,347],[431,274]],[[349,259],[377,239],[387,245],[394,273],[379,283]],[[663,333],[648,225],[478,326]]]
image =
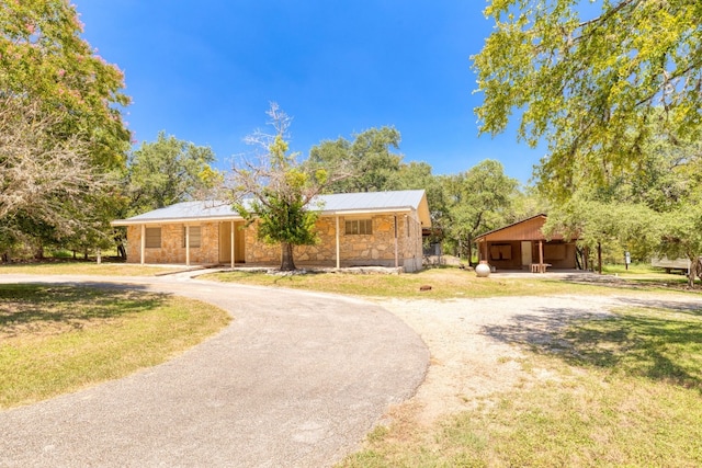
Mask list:
[[0,409],[162,363],[228,323],[191,299],[125,289],[0,286]]

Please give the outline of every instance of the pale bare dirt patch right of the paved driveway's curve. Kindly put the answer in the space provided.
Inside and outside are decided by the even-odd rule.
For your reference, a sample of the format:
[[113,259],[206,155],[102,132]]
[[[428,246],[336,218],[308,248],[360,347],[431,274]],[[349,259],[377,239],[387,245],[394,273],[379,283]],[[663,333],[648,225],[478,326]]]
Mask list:
[[[518,359],[530,344],[553,339],[569,320],[609,316],[624,305],[660,307],[661,299],[614,296],[505,297],[401,300],[381,304],[401,318],[431,353],[427,378],[409,401],[395,408],[395,421],[430,425],[439,418],[475,408],[483,397],[528,381],[554,378],[522,369]],[[702,307],[702,298],[666,298],[665,307]]]

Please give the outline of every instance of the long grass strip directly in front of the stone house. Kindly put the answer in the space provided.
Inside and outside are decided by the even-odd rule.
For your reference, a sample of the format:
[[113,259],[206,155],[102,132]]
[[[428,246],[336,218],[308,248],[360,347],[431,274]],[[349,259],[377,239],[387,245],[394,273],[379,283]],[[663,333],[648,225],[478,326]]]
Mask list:
[[[530,276],[501,277],[491,275],[478,278],[475,273],[455,267],[428,269],[401,275],[360,275],[349,273],[310,273],[304,275],[271,275],[263,272],[234,271],[211,273],[203,279],[235,282],[261,286],[288,287],[366,297],[399,297],[424,299],[452,299],[461,297],[545,296],[553,294],[610,294],[616,284],[581,284]],[[422,292],[420,286],[431,290]],[[650,284],[647,290],[666,292],[661,284]]]

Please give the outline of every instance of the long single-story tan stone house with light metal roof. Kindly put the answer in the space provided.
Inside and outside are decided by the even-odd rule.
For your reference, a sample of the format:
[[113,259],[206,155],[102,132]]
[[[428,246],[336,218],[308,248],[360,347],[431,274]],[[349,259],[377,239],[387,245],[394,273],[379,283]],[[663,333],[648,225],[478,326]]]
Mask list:
[[[298,266],[422,267],[422,228],[431,226],[423,190],[319,195],[319,243],[295,248]],[[225,202],[183,202],[127,219],[127,262],[273,265],[280,246],[257,239],[256,222]]]

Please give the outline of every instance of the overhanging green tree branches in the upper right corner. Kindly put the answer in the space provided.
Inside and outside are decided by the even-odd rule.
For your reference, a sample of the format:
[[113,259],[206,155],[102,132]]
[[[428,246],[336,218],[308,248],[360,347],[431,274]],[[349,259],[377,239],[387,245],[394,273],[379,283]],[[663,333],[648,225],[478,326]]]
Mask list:
[[552,197],[637,173],[654,119],[672,138],[702,135],[702,2],[494,0],[485,13],[480,132],[517,112],[521,138],[548,142],[537,175]]

